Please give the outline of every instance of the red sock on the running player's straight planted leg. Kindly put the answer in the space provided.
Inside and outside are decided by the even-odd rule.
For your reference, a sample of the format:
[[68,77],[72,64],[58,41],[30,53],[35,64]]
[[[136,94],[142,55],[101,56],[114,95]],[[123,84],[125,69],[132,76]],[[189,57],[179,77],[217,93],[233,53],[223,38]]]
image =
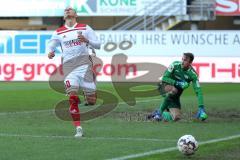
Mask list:
[[79,101],[80,100],[79,100],[78,96],[70,95],[70,97],[69,97],[69,103],[70,103],[69,112],[73,119],[73,125],[76,127],[81,125],[80,112],[79,112],[79,108],[78,108]]

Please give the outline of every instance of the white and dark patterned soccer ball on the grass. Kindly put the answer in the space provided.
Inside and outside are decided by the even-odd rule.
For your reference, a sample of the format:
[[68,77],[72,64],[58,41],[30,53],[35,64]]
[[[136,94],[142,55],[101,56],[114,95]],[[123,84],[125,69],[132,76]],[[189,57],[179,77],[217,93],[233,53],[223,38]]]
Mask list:
[[184,155],[192,155],[198,149],[198,143],[192,135],[184,135],[179,138],[177,147]]

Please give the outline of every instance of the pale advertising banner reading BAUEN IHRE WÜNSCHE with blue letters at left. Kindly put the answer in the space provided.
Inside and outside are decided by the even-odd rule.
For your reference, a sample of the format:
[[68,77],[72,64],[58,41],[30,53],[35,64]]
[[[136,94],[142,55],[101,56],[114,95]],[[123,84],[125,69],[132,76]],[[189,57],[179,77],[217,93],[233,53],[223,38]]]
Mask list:
[[[0,31],[1,55],[46,55],[52,31]],[[97,31],[102,42],[99,56],[240,57],[240,31]],[[121,45],[131,46],[122,49]],[[111,49],[114,47],[113,49]],[[110,50],[109,50],[110,49]]]

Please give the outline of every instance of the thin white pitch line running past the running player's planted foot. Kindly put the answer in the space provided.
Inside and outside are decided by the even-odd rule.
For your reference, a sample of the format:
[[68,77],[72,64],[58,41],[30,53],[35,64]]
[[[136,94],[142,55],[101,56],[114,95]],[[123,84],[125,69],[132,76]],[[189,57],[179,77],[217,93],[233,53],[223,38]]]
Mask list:
[[[50,138],[50,139],[76,139],[73,136],[49,136],[49,135],[27,135],[27,134],[9,134],[0,133],[0,137],[28,137],[28,138]],[[155,142],[175,142],[170,139],[157,139],[157,138],[131,138],[131,137],[82,137],[80,139],[92,140],[131,140],[131,141],[155,141]]]

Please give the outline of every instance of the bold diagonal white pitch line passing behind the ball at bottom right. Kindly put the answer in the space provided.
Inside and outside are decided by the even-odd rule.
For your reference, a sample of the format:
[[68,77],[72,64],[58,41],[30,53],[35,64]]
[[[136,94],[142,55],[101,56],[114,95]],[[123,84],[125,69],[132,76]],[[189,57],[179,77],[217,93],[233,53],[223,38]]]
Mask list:
[[[217,138],[217,139],[212,139],[212,140],[208,140],[208,141],[203,141],[203,142],[200,142],[199,145],[227,141],[227,140],[231,140],[231,139],[235,139],[235,138],[240,138],[240,134],[228,136],[225,138]],[[131,155],[112,158],[112,159],[108,159],[108,160],[127,160],[127,159],[150,156],[153,154],[165,153],[165,152],[170,152],[170,151],[175,151],[175,150],[178,150],[177,147],[170,147],[170,148],[165,148],[165,149],[152,150],[152,151],[148,151],[148,152],[144,152],[144,153],[131,154]]]

